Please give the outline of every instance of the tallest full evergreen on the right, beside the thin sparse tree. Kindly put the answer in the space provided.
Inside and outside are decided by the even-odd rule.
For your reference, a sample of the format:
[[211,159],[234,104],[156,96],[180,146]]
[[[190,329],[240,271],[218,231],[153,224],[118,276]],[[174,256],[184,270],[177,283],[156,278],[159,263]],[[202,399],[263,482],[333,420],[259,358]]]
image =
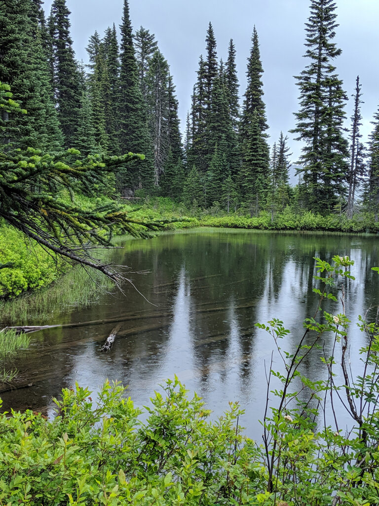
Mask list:
[[348,155],[343,137],[346,95],[333,64],[341,54],[333,39],[337,14],[334,0],[311,0],[306,23],[309,63],[296,77],[300,90],[300,110],[295,113],[297,140],[305,142],[299,172],[303,197],[309,208],[328,211],[344,192]]

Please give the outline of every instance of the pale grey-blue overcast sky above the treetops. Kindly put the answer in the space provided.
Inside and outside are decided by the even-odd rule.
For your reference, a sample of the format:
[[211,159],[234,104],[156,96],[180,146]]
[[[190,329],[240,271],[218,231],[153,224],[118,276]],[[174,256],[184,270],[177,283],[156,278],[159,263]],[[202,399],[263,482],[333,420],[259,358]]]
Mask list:
[[[370,121],[379,104],[379,1],[336,0],[338,22],[335,41],[343,50],[335,64],[350,97],[359,74],[362,84],[363,140],[371,131]],[[298,110],[298,89],[294,75],[306,64],[304,23],[309,15],[309,0],[129,0],[133,29],[139,26],[155,33],[158,46],[167,59],[179,100],[179,115],[184,130],[185,116],[191,106],[199,56],[205,54],[209,21],[217,41],[218,57],[224,61],[230,38],[234,40],[240,80],[240,96],[246,88],[246,60],[251,48],[254,25],[257,28],[264,69],[264,101],[272,145],[280,131],[295,126],[293,112]],[[52,0],[45,0],[46,14]],[[121,22],[123,0],[67,0],[71,11],[71,36],[78,60],[87,60],[88,37],[97,30],[101,36],[113,22]],[[353,99],[346,107],[352,114]],[[350,122],[347,123],[347,126]],[[295,161],[301,143],[290,145]]]

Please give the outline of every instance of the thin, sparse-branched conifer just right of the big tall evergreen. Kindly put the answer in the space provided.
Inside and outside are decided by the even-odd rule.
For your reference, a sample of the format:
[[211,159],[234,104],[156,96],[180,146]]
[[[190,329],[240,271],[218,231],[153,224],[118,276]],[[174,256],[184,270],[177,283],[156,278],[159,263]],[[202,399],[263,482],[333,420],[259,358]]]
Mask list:
[[352,95],[354,97],[354,112],[351,116],[351,154],[350,154],[350,171],[348,176],[349,183],[349,193],[348,193],[348,201],[347,201],[347,210],[346,216],[348,218],[352,218],[353,216],[353,207],[354,207],[354,199],[355,199],[355,191],[359,185],[360,177],[363,176],[361,174],[364,163],[362,163],[362,148],[359,139],[362,135],[359,132],[359,127],[362,124],[362,115],[360,111],[360,105],[363,103],[361,100],[362,92],[361,85],[359,83],[359,75],[356,79],[356,87],[355,94]]

